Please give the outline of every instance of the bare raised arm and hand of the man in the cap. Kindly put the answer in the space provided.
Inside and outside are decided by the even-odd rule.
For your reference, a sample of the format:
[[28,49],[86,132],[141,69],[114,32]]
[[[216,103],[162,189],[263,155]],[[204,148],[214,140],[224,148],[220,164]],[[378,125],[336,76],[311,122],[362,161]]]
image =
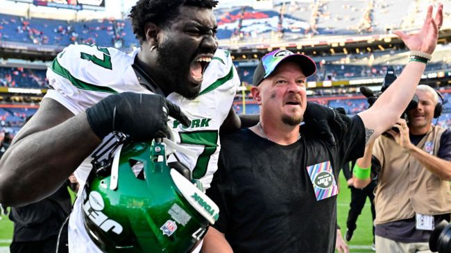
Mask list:
[[[439,27],[442,23],[443,6],[439,6],[434,18],[432,18],[432,6],[429,6],[425,23],[417,34],[406,35],[398,31],[396,35],[411,51],[421,51],[430,55],[436,47]],[[374,105],[359,113],[365,125],[366,143],[373,141],[382,132],[395,125],[414,96],[425,67],[426,64],[423,62],[409,62],[395,82],[384,91],[380,98],[377,98]]]

